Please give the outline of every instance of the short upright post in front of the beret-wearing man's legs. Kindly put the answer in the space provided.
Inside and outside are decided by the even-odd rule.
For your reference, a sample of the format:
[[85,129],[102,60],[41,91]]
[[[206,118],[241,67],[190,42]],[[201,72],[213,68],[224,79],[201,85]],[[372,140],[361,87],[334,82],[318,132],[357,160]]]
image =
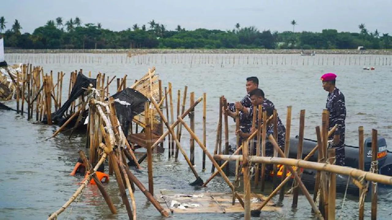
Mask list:
[[[328,150],[329,164],[335,164],[335,149]],[[329,174],[329,189],[328,189],[328,219],[335,220],[336,213],[336,174]],[[348,181],[348,180],[347,180]]]

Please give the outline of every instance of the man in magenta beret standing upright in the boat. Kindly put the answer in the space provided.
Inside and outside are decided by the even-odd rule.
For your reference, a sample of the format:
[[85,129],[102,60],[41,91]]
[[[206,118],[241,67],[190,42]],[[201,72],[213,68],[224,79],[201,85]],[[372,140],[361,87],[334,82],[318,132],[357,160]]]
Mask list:
[[336,165],[345,166],[345,150],[344,150],[344,136],[345,136],[345,119],[346,119],[346,105],[343,93],[335,86],[336,75],[333,73],[326,73],[321,76],[323,81],[323,88],[329,92],[327,97],[326,108],[329,112],[329,129],[335,124],[335,133],[329,137],[330,144],[328,148],[335,148]]

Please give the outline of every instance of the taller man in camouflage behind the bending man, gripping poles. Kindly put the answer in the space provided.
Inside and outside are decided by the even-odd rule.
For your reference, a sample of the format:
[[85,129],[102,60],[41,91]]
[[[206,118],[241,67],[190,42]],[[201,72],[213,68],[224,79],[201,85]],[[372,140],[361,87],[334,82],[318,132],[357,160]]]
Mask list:
[[[239,110],[240,112],[240,130],[242,132],[247,132],[249,131],[250,127],[252,126],[252,119],[249,120],[248,117],[242,117],[241,112],[244,110],[246,111],[250,106],[252,106],[252,102],[250,101],[250,96],[249,93],[258,88],[259,86],[259,79],[255,76],[248,77],[246,83],[246,91],[247,95],[242,98],[241,101],[237,101],[236,103],[227,103],[227,109],[230,110],[230,112],[236,112],[236,109]],[[225,107],[223,107],[225,108]],[[229,114],[231,117],[233,117],[234,121],[236,121],[235,114]]]

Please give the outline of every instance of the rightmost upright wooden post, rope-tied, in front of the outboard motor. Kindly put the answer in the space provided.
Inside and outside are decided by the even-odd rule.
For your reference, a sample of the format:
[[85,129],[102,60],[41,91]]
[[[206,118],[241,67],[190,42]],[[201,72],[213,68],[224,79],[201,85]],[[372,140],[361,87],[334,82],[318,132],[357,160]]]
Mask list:
[[[377,130],[372,129],[372,163],[370,170],[373,173],[378,173],[378,144],[377,144]],[[377,219],[377,182],[372,182],[372,220]]]

